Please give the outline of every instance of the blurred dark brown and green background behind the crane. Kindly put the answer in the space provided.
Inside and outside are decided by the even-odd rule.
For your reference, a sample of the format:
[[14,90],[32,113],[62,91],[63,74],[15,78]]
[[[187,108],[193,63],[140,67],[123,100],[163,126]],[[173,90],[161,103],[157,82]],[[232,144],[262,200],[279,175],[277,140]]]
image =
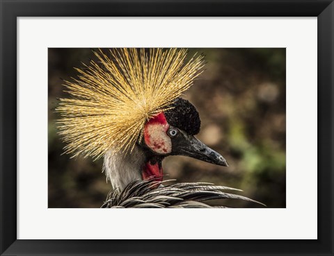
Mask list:
[[[242,189],[267,207],[285,207],[285,49],[189,49],[205,54],[205,71],[184,94],[202,121],[196,136],[221,153],[229,167],[189,157],[163,162],[165,179],[212,182]],[[57,98],[66,97],[62,79],[77,75],[94,58],[91,49],[49,49],[49,207],[100,207],[111,189],[102,160],[63,155],[56,133]],[[230,200],[231,207],[261,207]]]

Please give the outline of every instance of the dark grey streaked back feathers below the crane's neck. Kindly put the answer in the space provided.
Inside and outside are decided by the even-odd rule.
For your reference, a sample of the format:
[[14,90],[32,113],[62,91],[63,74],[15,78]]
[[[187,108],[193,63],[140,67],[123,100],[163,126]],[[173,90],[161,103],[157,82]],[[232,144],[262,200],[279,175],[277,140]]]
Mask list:
[[[168,181],[168,180],[166,180]],[[209,205],[209,200],[239,199],[259,203],[245,196],[230,194],[224,190],[237,190],[230,187],[215,186],[210,183],[175,183],[162,186],[154,178],[134,180],[123,191],[113,190],[109,193],[102,208],[211,208],[226,207]],[[157,185],[160,185],[157,188]],[[224,200],[223,200],[224,201]],[[222,202],[223,202],[222,201]],[[262,204],[262,203],[260,203]]]

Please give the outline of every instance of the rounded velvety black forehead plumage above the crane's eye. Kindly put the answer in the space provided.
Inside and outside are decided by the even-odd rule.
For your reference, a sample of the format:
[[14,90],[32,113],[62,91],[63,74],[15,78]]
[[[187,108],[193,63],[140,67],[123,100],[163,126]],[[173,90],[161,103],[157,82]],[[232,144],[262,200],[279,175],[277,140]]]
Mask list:
[[200,115],[196,108],[189,101],[177,98],[173,107],[165,113],[166,119],[171,126],[184,130],[189,135],[196,135],[200,132]]

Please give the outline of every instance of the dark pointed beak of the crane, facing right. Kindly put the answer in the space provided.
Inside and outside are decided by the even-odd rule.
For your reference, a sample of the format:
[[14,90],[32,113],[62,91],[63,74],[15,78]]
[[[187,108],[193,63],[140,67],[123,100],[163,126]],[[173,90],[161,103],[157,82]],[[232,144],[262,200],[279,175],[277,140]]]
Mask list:
[[196,139],[196,137],[187,135],[186,133],[182,133],[182,136],[179,137],[175,145],[173,144],[172,154],[185,155],[204,162],[228,167],[228,162],[226,162],[225,158],[221,154],[200,142],[200,140]]

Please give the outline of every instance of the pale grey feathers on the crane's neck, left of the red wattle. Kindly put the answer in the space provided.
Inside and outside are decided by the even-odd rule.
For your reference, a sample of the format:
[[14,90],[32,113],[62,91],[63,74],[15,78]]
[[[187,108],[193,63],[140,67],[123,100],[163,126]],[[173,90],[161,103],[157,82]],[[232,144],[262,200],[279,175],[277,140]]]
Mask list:
[[106,180],[110,180],[113,189],[122,191],[129,182],[142,179],[146,159],[143,149],[137,145],[131,153],[108,151],[104,155],[102,171],[106,173]]

